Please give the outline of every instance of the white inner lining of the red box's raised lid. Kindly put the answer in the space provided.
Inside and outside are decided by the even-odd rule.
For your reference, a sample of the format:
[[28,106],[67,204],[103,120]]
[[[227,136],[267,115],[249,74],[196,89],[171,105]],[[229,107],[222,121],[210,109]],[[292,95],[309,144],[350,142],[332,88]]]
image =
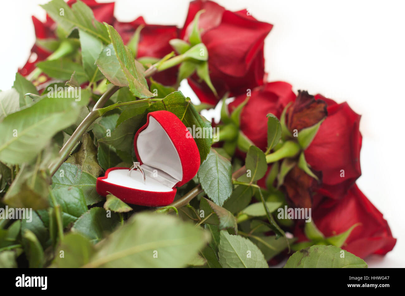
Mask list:
[[147,128],[139,133],[136,149],[143,164],[166,172],[177,180],[174,184],[183,179],[179,153],[166,131],[153,116],[149,116]]

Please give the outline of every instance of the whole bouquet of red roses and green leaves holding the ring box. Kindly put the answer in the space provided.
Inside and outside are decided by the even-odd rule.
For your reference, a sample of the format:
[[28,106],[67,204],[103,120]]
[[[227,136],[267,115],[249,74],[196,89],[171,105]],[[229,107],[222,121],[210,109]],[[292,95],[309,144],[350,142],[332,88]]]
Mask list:
[[[268,82],[271,24],[203,0],[182,28],[42,7],[0,92],[0,267],[367,267],[392,250],[356,185],[360,115]],[[218,103],[220,122],[200,115]]]

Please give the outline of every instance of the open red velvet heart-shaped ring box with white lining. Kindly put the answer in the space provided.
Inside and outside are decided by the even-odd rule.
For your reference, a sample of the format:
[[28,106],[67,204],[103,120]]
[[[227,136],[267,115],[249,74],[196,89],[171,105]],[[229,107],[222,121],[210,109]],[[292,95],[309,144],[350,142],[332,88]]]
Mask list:
[[128,204],[167,206],[177,189],[190,181],[200,167],[196,142],[183,122],[169,111],[148,113],[147,122],[135,134],[136,158],[145,172],[109,168],[97,178],[98,194],[113,194]]

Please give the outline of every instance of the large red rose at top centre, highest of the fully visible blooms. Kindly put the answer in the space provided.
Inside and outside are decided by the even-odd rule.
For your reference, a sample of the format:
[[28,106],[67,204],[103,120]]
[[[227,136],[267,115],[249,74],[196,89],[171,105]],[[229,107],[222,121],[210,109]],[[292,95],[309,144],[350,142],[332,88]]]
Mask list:
[[227,91],[235,96],[263,84],[264,38],[273,25],[257,21],[247,10],[231,12],[215,2],[195,0],[190,3],[180,38],[188,41],[194,17],[202,9],[205,12],[200,15],[199,28],[218,97],[195,75],[188,83],[200,101],[216,105]]

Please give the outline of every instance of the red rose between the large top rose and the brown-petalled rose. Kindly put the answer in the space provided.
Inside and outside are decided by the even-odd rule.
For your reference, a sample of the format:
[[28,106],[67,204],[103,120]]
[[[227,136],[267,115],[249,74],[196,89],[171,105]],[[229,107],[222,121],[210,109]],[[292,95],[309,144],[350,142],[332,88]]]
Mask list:
[[[252,90],[249,101],[241,113],[241,131],[260,149],[266,150],[267,146],[267,118],[268,113],[273,113],[277,118],[288,103],[294,101],[296,95],[292,92],[291,84],[287,82],[268,82]],[[236,97],[229,104],[232,112],[246,99],[246,93]]]

